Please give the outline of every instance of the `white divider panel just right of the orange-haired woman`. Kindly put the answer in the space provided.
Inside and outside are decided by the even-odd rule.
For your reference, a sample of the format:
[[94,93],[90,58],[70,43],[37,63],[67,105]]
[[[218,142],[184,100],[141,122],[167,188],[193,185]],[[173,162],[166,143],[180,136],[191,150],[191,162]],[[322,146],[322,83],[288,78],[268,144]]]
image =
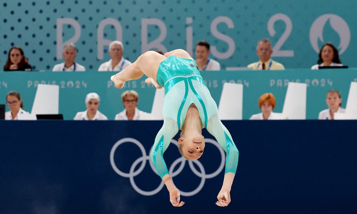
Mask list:
[[306,119],[306,88],[306,83],[289,82],[282,112],[283,119]]

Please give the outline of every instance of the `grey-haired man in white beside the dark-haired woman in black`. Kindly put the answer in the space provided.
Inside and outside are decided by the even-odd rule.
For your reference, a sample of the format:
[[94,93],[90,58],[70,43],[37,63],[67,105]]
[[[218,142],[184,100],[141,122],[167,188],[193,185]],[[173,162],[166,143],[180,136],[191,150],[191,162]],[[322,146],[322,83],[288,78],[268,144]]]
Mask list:
[[85,71],[86,68],[76,62],[77,47],[73,43],[67,43],[63,47],[64,62],[53,67],[52,71]]

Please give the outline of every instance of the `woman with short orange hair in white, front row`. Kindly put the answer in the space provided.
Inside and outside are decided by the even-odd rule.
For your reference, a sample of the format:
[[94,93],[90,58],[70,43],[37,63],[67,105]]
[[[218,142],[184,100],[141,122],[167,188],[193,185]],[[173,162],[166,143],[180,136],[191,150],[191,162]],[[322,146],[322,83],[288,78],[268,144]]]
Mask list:
[[275,97],[272,93],[265,93],[258,99],[258,107],[262,110],[262,113],[252,115],[249,120],[273,120],[274,113],[272,110],[275,108]]

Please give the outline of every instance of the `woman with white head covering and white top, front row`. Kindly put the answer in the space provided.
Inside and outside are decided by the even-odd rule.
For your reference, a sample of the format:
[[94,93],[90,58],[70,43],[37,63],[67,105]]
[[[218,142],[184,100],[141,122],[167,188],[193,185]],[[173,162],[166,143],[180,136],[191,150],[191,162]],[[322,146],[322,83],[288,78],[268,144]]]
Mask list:
[[85,99],[87,110],[77,112],[73,120],[108,120],[108,118],[98,111],[100,97],[97,93],[89,93]]

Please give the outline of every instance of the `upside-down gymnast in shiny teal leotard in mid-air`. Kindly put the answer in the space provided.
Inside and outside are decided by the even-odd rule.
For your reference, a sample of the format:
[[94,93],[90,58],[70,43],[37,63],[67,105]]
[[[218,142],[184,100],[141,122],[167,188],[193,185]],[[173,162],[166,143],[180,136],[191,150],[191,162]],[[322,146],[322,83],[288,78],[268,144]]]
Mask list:
[[163,106],[164,125],[157,133],[151,151],[151,160],[170,193],[173,206],[182,206],[180,191],[174,185],[167,170],[163,155],[178,130],[178,150],[188,160],[201,157],[205,149],[202,128],[207,128],[226,152],[226,170],[216,205],[227,206],[238,164],[238,150],[227,128],[218,117],[217,104],[198,70],[197,64],[185,50],[176,49],[161,55],[155,51],[142,54],[137,60],[111,80],[117,88],[126,81],[139,79],[143,75],[148,84],[156,88],[165,87]]

